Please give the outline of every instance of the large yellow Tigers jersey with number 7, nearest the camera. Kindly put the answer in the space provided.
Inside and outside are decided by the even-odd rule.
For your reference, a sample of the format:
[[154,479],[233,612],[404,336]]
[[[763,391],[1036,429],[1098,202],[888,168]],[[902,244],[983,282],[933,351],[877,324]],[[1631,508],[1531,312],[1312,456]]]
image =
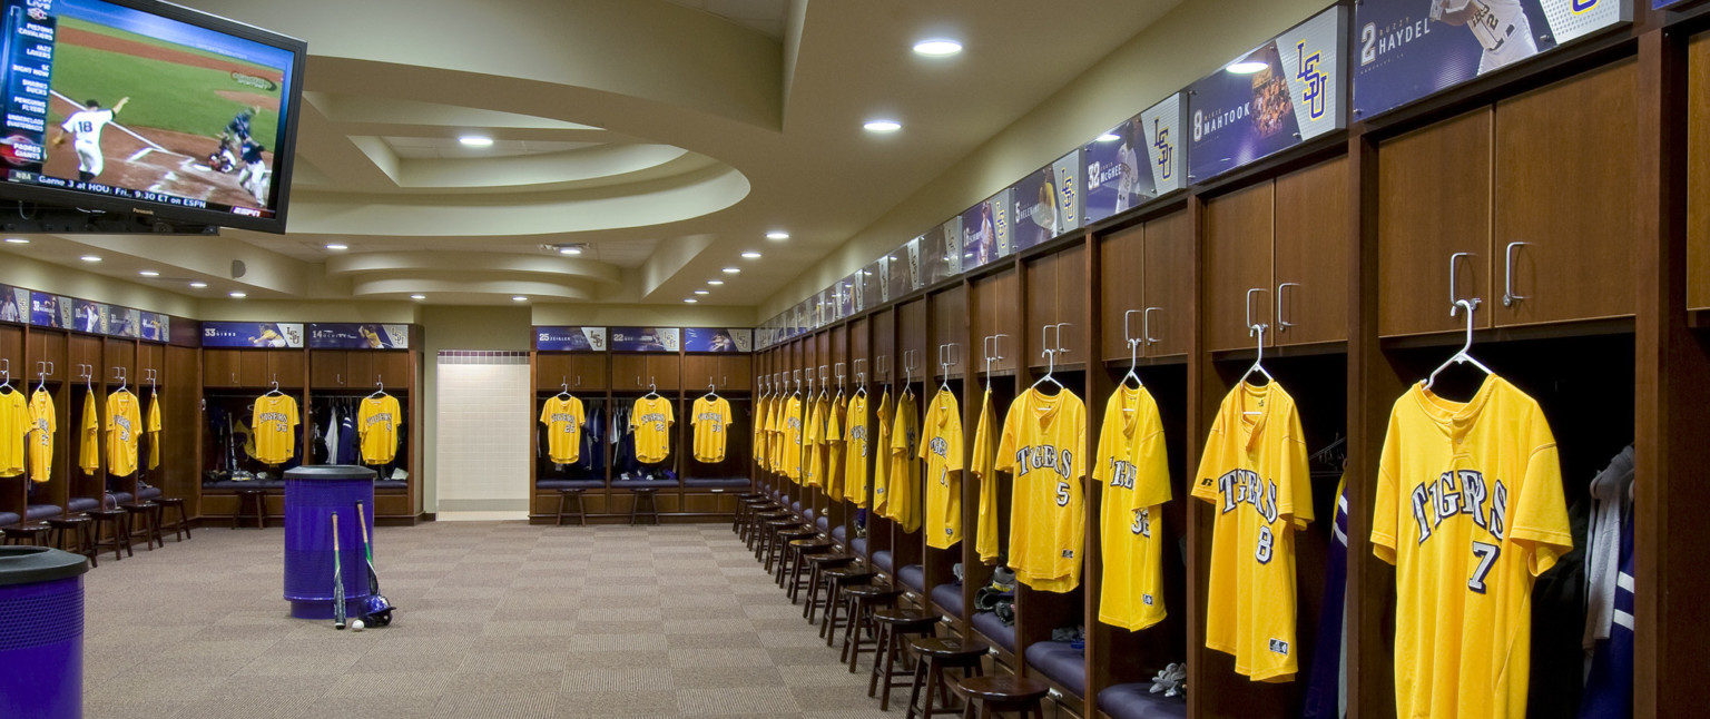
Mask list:
[[1467,403],[1421,384],[1390,410],[1371,552],[1395,565],[1395,710],[1524,717],[1532,582],[1573,550],[1542,408],[1489,376]]

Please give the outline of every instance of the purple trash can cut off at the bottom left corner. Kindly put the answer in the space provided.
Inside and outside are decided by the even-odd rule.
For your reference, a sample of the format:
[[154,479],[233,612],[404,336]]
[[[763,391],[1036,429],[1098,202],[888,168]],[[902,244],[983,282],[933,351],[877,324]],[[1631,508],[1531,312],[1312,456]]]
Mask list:
[[84,716],[82,555],[0,547],[0,717]]

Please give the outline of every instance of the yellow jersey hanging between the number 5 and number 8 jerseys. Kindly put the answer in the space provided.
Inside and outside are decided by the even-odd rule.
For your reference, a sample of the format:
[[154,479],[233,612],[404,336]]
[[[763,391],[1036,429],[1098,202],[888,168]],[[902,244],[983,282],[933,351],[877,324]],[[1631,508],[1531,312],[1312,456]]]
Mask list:
[[1117,388],[1105,403],[1093,478],[1105,487],[1098,620],[1130,632],[1165,618],[1163,504],[1170,459],[1158,403],[1146,388]]

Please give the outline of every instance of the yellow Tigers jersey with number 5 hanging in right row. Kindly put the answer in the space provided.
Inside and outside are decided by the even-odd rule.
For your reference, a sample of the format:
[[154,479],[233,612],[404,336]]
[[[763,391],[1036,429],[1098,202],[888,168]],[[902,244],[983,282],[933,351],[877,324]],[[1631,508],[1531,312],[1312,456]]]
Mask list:
[[1014,475],[1009,567],[1023,584],[1053,593],[1081,586],[1086,545],[1086,403],[1069,389],[1028,389],[1009,405],[997,470]]

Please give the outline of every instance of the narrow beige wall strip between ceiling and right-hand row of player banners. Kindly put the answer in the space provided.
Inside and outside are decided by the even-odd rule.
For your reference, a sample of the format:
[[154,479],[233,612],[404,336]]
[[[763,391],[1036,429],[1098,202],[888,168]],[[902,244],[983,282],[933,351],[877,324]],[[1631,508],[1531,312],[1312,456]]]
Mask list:
[[775,292],[759,321],[831,287],[992,196],[1028,172],[1132,118],[1235,56],[1330,7],[1330,0],[1190,0],[1070,80],[978,150],[951,166],[826,260]]

